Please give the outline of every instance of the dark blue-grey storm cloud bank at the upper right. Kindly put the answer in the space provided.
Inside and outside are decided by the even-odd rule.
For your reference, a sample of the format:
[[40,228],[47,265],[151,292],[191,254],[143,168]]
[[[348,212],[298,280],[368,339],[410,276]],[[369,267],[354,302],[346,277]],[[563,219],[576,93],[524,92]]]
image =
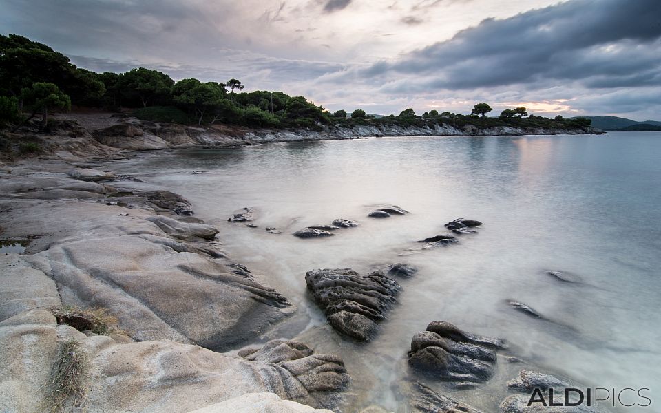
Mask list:
[[[661,72],[661,1],[575,0],[518,14],[486,19],[452,39],[410,52],[370,76],[415,75],[395,81],[390,91],[470,89],[518,83],[578,80],[616,87],[649,71]],[[611,83],[609,83],[611,82]],[[643,81],[640,85],[649,84]]]

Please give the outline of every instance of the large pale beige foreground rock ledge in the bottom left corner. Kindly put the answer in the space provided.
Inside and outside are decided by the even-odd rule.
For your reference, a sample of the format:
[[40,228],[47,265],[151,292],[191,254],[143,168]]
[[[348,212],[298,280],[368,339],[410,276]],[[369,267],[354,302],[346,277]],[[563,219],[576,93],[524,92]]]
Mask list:
[[[70,326],[56,326],[48,311],[34,310],[0,323],[3,410],[44,411],[44,383],[60,344],[69,339],[86,354],[90,412],[316,412],[313,407],[340,405],[349,381],[342,359],[315,354],[302,343],[269,341],[231,357],[174,341],[86,337]],[[238,397],[242,403],[237,405]],[[271,401],[292,410],[260,410]]]

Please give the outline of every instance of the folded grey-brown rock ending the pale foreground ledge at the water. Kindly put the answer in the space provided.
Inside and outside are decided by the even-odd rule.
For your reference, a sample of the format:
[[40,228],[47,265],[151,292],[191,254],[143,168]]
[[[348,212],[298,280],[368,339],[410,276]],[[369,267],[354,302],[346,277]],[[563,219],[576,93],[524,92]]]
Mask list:
[[315,354],[304,343],[297,341],[271,340],[262,348],[247,348],[238,356],[248,361],[272,366],[273,372],[264,372],[266,377],[282,381],[278,392],[287,399],[306,401],[308,404],[330,407],[337,403],[350,381],[344,362],[337,354]]

